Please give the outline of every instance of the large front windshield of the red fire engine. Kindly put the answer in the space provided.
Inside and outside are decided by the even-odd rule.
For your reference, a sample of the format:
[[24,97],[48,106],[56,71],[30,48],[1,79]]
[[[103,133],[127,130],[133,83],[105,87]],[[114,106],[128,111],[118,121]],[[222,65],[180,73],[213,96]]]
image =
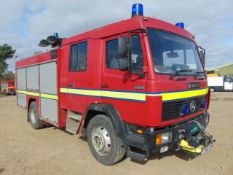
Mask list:
[[155,71],[162,74],[194,75],[203,68],[195,43],[161,30],[148,30]]

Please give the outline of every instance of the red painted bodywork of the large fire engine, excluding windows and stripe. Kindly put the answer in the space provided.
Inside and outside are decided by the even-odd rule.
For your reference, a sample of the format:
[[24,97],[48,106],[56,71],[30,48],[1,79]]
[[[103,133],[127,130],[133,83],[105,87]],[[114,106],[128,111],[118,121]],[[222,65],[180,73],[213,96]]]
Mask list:
[[[152,61],[149,42],[146,34],[140,34],[142,38],[141,42],[144,54],[144,69],[147,70],[147,74],[144,79],[138,78],[137,75],[106,68],[105,41],[116,38],[117,36],[129,35],[129,31],[132,30],[145,29],[147,27],[167,30],[194,40],[194,36],[186,30],[180,29],[161,20],[141,16],[120,21],[64,39],[61,49],[58,50],[59,54],[57,58],[58,90],[61,87],[69,88],[68,84],[73,83],[73,88],[136,91],[134,87],[140,85],[144,86],[145,88],[144,90],[138,92],[165,92],[186,90],[187,82],[190,81],[200,82],[201,88],[206,88],[206,80],[195,80],[194,77],[188,77],[183,81],[175,81],[169,79],[169,76],[167,75],[155,74],[153,65],[154,63]],[[88,41],[87,70],[85,72],[69,72],[70,46],[83,40]],[[39,64],[50,60],[50,52],[47,52],[18,61],[16,63],[16,67],[19,68],[28,65]],[[101,88],[101,84],[107,84],[108,88]],[[185,118],[162,122],[161,97],[147,97],[146,102],[135,102],[112,98],[62,94],[60,92],[58,92],[58,95],[58,127],[65,127],[67,109],[85,114],[88,106],[91,103],[112,104],[118,110],[123,121],[147,127],[162,127],[179,122],[181,120],[192,118],[194,116],[189,115]],[[203,111],[199,113],[202,112]]]

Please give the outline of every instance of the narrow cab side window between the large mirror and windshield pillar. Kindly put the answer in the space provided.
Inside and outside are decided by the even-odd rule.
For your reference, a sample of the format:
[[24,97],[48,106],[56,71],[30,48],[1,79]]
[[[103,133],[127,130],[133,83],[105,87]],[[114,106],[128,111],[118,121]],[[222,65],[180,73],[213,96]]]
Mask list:
[[141,72],[143,68],[143,53],[140,35],[131,36],[131,71]]

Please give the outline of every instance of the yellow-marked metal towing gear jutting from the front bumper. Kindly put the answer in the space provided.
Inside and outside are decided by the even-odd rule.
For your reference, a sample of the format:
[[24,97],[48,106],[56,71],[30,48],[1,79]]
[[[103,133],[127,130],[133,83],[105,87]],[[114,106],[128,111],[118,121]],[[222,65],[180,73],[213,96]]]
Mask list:
[[178,148],[193,154],[205,154],[214,146],[215,139],[199,122],[193,122],[199,126],[200,132],[191,138],[181,139]]

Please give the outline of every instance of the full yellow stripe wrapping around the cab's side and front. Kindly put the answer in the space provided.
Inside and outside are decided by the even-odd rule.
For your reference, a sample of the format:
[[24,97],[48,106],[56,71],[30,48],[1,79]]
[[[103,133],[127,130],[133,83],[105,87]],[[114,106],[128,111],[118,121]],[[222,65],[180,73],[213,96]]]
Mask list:
[[180,91],[180,92],[165,92],[165,93],[135,93],[135,92],[118,92],[118,91],[101,91],[101,90],[88,90],[88,89],[69,89],[60,88],[61,93],[74,94],[74,95],[87,95],[97,97],[116,98],[122,100],[136,100],[146,101],[146,96],[162,96],[163,101],[178,100],[196,96],[202,96],[208,93],[208,88]]

